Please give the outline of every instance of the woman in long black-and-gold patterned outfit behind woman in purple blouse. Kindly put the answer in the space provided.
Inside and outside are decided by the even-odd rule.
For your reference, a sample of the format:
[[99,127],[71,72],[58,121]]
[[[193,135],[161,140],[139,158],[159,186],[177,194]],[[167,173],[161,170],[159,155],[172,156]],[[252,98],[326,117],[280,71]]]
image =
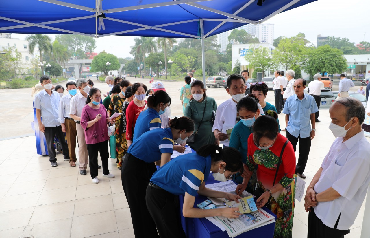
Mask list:
[[123,132],[122,127],[122,104],[126,100],[125,91],[128,86],[131,86],[131,83],[128,80],[122,80],[120,82],[121,92],[112,97],[112,100],[109,104],[107,110],[108,116],[113,115],[115,112],[120,113],[119,116],[115,119],[115,135],[116,135],[116,151],[117,151],[117,167],[122,169],[122,157],[127,151],[127,141],[125,133]]

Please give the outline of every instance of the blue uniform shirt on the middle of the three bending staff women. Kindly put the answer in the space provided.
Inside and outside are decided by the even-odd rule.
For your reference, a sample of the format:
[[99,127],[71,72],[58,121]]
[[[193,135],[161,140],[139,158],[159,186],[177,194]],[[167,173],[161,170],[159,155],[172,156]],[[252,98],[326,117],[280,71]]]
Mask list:
[[161,159],[162,153],[172,155],[173,150],[174,138],[171,128],[157,128],[137,138],[128,148],[127,153],[147,163],[153,163]]

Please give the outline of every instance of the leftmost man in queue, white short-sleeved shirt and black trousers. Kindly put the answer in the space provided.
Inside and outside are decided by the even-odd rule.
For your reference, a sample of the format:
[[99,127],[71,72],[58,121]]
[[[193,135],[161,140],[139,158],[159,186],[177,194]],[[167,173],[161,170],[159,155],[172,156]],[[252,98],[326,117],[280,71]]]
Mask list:
[[49,76],[41,76],[40,83],[44,87],[44,90],[36,94],[33,108],[36,109],[38,129],[44,132],[45,135],[50,165],[51,167],[56,167],[58,163],[56,158],[57,153],[54,148],[55,135],[60,142],[64,160],[70,160],[68,145],[65,142],[62,127],[58,121],[60,95],[51,90],[53,84]]

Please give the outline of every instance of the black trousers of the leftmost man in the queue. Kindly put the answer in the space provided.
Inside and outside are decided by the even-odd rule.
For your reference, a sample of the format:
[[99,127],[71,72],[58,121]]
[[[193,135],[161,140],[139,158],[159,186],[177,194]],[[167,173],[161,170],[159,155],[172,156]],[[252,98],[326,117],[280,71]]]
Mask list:
[[65,136],[62,131],[62,126],[45,126],[45,139],[46,139],[46,146],[47,146],[47,152],[49,155],[49,161],[50,162],[57,162],[57,153],[55,152],[54,148],[54,137],[55,135],[58,138],[58,141],[60,142],[60,146],[63,151],[64,159],[70,159],[69,152],[68,152],[68,145],[67,142],[65,142]]

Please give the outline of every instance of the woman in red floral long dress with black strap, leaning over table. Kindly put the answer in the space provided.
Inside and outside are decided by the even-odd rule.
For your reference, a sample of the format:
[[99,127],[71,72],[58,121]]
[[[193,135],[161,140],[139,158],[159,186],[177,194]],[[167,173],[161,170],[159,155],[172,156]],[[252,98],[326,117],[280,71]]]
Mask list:
[[[256,119],[253,134],[248,138],[246,165],[249,170],[257,166],[253,193],[257,207],[266,205],[277,216],[274,237],[289,238],[293,228],[296,156],[292,144],[278,129],[276,119],[270,115]],[[248,181],[245,178],[239,186],[245,188]]]

